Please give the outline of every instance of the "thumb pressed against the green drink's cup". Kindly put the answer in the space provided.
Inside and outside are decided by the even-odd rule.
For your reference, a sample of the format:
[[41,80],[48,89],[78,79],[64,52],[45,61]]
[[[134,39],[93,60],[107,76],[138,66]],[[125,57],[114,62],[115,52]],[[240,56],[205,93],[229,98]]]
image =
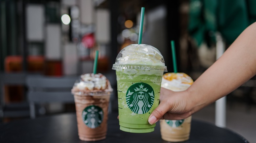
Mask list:
[[148,118],[149,124],[153,125],[154,123],[159,121],[166,112],[168,112],[169,108],[166,105],[168,105],[166,104],[166,101],[160,102],[158,107],[149,116]]

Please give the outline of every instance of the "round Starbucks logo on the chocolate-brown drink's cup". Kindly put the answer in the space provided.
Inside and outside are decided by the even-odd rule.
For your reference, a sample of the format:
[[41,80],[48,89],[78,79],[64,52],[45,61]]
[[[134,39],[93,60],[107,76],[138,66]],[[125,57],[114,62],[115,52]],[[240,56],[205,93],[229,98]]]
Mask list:
[[99,106],[88,106],[82,112],[82,119],[87,127],[94,129],[103,121],[103,111]]

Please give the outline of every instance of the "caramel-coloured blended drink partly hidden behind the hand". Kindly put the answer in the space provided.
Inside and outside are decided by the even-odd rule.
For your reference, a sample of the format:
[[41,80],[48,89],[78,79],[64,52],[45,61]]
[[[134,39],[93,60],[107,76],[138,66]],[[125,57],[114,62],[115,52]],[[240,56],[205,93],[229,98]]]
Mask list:
[[[172,91],[183,91],[193,83],[191,77],[185,73],[165,73],[161,87]],[[160,120],[160,132],[163,140],[181,142],[189,139],[191,116],[182,120]]]

